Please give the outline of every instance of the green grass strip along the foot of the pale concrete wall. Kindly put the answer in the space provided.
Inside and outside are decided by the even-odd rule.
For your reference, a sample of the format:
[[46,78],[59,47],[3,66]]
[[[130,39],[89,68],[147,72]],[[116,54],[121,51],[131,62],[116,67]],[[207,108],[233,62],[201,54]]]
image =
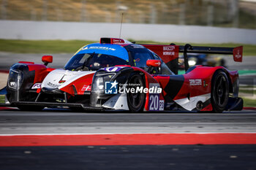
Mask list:
[[[130,41],[135,41],[129,39]],[[0,39],[0,51],[12,53],[75,53],[83,45],[88,45],[94,41],[81,40],[10,40]],[[153,41],[136,41],[137,44],[164,44],[170,42],[153,42]],[[176,45],[184,45],[185,43],[176,43]],[[198,46],[213,46],[213,47],[238,47],[239,44],[191,44]],[[244,55],[256,56],[256,45],[244,45]]]

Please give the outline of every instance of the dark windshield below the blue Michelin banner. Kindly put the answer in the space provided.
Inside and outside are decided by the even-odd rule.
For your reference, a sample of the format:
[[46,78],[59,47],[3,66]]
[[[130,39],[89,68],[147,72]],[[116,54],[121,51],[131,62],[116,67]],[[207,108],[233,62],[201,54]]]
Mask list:
[[116,66],[128,65],[129,62],[113,55],[105,55],[99,53],[85,53],[74,55],[64,66],[64,69],[71,71],[89,70],[96,71],[98,69]]

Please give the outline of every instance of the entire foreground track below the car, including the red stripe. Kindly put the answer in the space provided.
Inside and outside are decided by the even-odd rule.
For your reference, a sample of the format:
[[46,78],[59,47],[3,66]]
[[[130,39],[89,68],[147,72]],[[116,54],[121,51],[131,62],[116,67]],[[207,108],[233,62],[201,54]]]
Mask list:
[[256,169],[256,113],[250,110],[5,109],[0,110],[0,134],[1,169]]

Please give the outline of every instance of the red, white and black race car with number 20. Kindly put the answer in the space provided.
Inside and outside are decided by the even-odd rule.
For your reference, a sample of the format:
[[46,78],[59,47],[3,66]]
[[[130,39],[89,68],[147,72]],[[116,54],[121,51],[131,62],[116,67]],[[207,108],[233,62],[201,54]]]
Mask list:
[[[138,45],[125,39],[101,38],[81,47],[64,69],[20,61],[10,68],[8,106],[22,110],[69,107],[72,110],[129,112],[241,110],[238,72],[223,66],[192,66],[187,53],[231,54],[242,61],[243,47]],[[178,72],[184,53],[185,74]],[[7,104],[6,104],[7,105]]]

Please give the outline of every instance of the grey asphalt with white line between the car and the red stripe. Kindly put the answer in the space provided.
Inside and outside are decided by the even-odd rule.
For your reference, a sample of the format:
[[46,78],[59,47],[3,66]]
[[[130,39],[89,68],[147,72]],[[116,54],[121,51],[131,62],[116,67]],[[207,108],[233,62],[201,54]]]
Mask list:
[[253,111],[210,113],[85,113],[0,111],[0,134],[254,133]]

